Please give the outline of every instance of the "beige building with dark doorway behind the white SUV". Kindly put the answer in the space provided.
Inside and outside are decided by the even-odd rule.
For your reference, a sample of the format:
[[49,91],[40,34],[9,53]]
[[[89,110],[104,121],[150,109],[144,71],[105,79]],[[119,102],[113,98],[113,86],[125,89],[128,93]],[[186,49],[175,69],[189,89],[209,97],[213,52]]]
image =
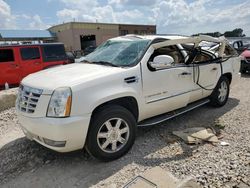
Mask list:
[[56,34],[58,42],[65,44],[67,51],[78,51],[121,35],[156,34],[156,25],[69,22],[55,25],[49,31]]

